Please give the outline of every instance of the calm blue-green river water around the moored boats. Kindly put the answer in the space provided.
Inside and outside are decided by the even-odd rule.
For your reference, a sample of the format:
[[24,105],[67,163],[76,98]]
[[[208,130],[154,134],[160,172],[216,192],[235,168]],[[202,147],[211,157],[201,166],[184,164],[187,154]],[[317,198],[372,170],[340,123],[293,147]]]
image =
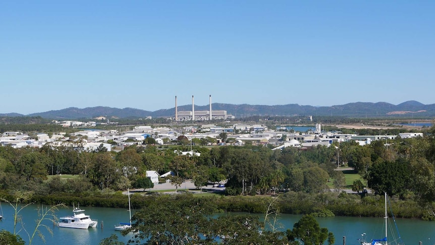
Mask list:
[[[0,221],[0,229],[13,231],[13,209],[5,203],[2,203],[4,218]],[[35,220],[37,219],[36,205],[27,207],[20,213],[23,217],[25,228],[29,232],[33,232]],[[97,228],[89,228],[87,230],[59,228],[49,225],[53,230],[53,236],[49,235],[44,230],[46,243],[45,244],[98,244],[101,239],[109,237],[111,234],[117,234],[119,240],[127,243],[129,237],[123,237],[120,231],[113,229],[114,225],[119,222],[128,221],[128,211],[124,209],[113,208],[92,208],[82,207],[85,209],[85,214],[90,215],[93,219],[98,219]],[[72,208],[62,209],[57,212],[58,217],[72,214]],[[260,219],[262,215],[258,215]],[[280,216],[279,222],[282,224],[281,230],[292,228],[302,216],[301,215],[286,215]],[[362,233],[366,233],[366,239],[383,238],[384,228],[382,218],[355,218],[355,217],[334,217],[334,218],[318,218],[321,227],[327,227],[333,232],[336,237],[336,244],[343,244],[343,236],[346,236],[346,244],[359,244],[358,238],[361,238]],[[101,221],[103,221],[103,229],[101,229]],[[421,221],[414,219],[396,219],[400,231],[400,235],[405,244],[417,245],[419,241],[423,244],[435,244],[435,222]],[[28,244],[28,236],[24,231],[19,233]],[[390,236],[391,237],[391,236]],[[33,239],[32,244],[44,244],[39,237]]]

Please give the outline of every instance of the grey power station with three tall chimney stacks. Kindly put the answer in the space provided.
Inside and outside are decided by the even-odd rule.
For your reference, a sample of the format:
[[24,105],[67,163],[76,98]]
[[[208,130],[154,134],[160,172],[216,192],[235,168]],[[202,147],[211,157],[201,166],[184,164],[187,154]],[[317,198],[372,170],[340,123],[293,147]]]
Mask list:
[[213,119],[227,119],[227,111],[211,110],[211,95],[209,95],[210,110],[196,111],[192,95],[192,111],[179,112],[177,108],[177,96],[175,96],[175,121],[205,121]]

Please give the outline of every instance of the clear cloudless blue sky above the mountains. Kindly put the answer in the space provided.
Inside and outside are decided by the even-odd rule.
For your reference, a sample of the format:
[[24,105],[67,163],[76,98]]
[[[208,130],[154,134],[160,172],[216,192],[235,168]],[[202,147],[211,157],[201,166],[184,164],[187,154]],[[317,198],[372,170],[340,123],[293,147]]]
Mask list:
[[435,1],[0,2],[0,113],[435,103]]

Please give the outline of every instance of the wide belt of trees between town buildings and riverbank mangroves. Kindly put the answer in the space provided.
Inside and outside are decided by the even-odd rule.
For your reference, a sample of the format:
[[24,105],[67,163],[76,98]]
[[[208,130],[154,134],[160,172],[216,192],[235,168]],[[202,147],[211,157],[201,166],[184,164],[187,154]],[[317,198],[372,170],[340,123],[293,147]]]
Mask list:
[[[198,189],[211,182],[227,180],[227,195],[257,195],[286,192],[283,203],[286,213],[318,213],[329,215],[361,215],[366,206],[347,209],[340,195],[321,206],[309,206],[317,195],[329,191],[326,184],[333,179],[338,190],[344,187],[344,176],[335,171],[337,163],[352,167],[366,181],[356,181],[352,187],[361,192],[363,187],[374,193],[386,191],[389,195],[423,208],[432,209],[435,201],[435,129],[424,137],[397,137],[372,141],[364,146],[354,141],[334,142],[332,147],[316,146],[311,149],[286,148],[271,151],[264,146],[247,145],[217,146],[206,148],[194,146],[200,156],[178,155],[188,150],[187,146],[157,149],[153,145],[138,148],[132,146],[118,153],[103,148],[95,152],[82,151],[82,143],[68,145],[44,145],[40,149],[11,146],[0,147],[0,187],[5,195],[14,191],[32,191],[41,202],[65,201],[62,193],[75,194],[124,190],[129,187],[149,188],[146,170],[159,174],[172,171],[173,180],[191,179]],[[228,135],[221,135],[228,137]],[[47,175],[48,174],[48,175]],[[59,174],[72,174],[76,178],[62,179]],[[107,193],[110,191],[107,191]],[[300,195],[293,199],[293,194]],[[338,193],[336,194],[336,196]],[[90,205],[116,205],[116,199],[93,195],[97,201]],[[343,197],[342,197],[343,198]],[[45,200],[46,199],[46,200]],[[298,200],[304,200],[306,205]],[[340,203],[340,205],[335,205]],[[295,206],[298,204],[299,206]],[[225,206],[227,205],[227,206]],[[349,206],[357,205],[351,202]],[[411,207],[409,205],[408,207]],[[255,205],[244,208],[222,204],[223,210],[257,210]],[[420,208],[421,208],[420,207]],[[251,211],[252,211],[251,210]],[[375,215],[368,210],[368,215]],[[422,212],[411,208],[404,217],[423,217]],[[427,216],[427,215],[426,215]],[[430,217],[426,217],[431,219]]]

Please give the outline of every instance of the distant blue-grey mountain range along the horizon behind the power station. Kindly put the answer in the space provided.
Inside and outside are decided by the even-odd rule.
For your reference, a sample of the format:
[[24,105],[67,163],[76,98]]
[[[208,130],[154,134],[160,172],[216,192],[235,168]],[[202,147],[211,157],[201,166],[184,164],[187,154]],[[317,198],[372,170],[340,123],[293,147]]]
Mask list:
[[[178,111],[191,111],[192,105],[179,106]],[[208,111],[209,105],[196,106],[195,111]],[[213,103],[212,110],[225,110],[236,118],[249,116],[342,116],[342,117],[433,117],[435,104],[424,105],[416,101],[407,101],[399,105],[385,102],[367,103],[356,102],[331,107],[300,106],[298,104],[264,106],[264,105],[233,105]],[[0,116],[40,116],[42,118],[65,120],[78,118],[116,117],[116,118],[146,118],[174,117],[175,108],[161,109],[154,112],[134,108],[111,107],[70,107],[63,110],[48,111],[22,115],[18,113],[0,114]]]

